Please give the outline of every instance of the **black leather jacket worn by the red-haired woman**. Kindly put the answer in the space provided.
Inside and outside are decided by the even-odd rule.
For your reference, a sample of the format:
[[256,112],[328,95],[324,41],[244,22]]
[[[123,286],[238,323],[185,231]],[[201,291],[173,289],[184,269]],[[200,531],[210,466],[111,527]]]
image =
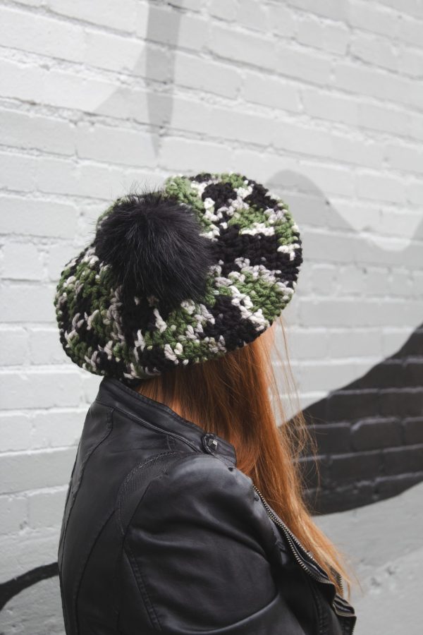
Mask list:
[[357,617],[235,449],[104,378],[63,514],[68,635],[350,635]]

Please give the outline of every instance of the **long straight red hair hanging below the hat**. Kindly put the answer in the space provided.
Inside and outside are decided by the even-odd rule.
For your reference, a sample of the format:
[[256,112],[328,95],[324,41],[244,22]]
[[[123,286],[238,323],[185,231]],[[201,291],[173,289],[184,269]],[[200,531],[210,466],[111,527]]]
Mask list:
[[[293,399],[297,405],[297,413],[289,421],[271,359],[272,352],[278,353],[274,346],[276,323],[281,327],[285,348],[285,359],[279,356],[279,375],[285,377],[286,397],[291,406]],[[304,477],[298,459],[305,452],[307,456],[311,454],[319,475],[315,461],[317,444],[298,409],[282,317],[250,344],[220,358],[142,380],[138,392],[170,406],[206,432],[231,442],[237,455],[237,468],[250,476],[290,530],[312,551],[341,595],[341,586],[331,567],[343,576],[350,598],[352,580],[345,555],[314,523],[302,495]]]

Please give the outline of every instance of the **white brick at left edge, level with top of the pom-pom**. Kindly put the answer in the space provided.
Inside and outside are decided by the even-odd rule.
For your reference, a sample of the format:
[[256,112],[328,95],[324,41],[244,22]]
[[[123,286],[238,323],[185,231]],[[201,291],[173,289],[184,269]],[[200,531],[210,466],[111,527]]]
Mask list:
[[68,202],[0,196],[4,234],[69,238],[77,230],[78,210]]

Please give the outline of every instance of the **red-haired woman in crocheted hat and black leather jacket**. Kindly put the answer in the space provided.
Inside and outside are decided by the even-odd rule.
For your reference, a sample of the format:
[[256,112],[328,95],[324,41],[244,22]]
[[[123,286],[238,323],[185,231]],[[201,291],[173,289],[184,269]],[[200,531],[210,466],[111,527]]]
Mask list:
[[59,543],[68,635],[353,632],[302,499],[305,422],[278,428],[269,392],[284,422],[272,336],[301,262],[283,201],[201,173],[116,200],[66,266],[61,342],[104,375]]

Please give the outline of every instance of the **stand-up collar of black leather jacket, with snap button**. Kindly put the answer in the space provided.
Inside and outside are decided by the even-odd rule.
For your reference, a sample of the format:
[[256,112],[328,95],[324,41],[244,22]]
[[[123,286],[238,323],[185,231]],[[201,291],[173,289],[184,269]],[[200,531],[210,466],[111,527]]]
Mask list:
[[206,433],[199,425],[178,415],[169,406],[145,397],[113,377],[104,377],[97,399],[129,416],[152,423],[164,433],[183,437],[197,452],[207,452],[225,464],[236,466],[236,452],[232,443],[219,435]]

